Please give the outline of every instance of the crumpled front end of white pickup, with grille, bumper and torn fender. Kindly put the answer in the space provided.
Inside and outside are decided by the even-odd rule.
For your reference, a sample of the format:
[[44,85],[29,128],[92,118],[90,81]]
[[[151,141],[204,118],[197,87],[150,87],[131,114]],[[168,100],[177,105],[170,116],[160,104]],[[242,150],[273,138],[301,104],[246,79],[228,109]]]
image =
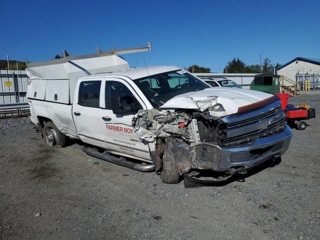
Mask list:
[[[234,106],[210,98],[197,101],[195,109],[139,110],[132,126],[145,141],[166,142],[179,175],[212,170],[230,176],[286,151],[291,131],[284,123],[285,115],[277,98],[236,107],[236,112]],[[155,161],[161,161],[160,158]],[[156,163],[156,171],[160,171],[162,164]]]

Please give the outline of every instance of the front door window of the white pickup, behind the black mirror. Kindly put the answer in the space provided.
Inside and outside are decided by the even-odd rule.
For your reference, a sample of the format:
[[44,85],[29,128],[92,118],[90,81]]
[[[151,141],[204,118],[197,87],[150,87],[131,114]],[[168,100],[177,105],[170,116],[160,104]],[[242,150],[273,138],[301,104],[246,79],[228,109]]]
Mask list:
[[[106,81],[105,82],[105,109],[112,109],[112,97],[120,97],[123,104],[138,102],[133,93],[122,82]],[[142,108],[142,107],[141,107]]]

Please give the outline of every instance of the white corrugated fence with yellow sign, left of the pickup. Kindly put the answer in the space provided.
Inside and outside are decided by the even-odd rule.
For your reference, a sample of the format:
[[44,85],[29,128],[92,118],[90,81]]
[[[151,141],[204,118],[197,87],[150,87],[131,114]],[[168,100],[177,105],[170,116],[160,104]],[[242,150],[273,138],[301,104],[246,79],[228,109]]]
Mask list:
[[0,104],[26,102],[27,86],[24,70],[0,70]]

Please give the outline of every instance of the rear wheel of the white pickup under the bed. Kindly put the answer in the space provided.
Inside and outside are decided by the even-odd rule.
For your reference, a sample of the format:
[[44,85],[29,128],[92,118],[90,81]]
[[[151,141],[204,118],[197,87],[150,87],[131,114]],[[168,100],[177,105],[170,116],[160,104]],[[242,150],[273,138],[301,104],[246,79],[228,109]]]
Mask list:
[[59,131],[52,121],[44,123],[43,138],[49,147],[64,147],[66,135]]

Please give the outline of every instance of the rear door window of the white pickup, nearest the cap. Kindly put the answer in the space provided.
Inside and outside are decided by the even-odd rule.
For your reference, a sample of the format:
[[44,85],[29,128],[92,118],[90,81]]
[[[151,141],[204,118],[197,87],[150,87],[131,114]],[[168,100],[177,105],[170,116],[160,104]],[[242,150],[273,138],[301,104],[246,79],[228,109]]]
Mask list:
[[99,107],[101,81],[82,81],[79,85],[78,104]]

